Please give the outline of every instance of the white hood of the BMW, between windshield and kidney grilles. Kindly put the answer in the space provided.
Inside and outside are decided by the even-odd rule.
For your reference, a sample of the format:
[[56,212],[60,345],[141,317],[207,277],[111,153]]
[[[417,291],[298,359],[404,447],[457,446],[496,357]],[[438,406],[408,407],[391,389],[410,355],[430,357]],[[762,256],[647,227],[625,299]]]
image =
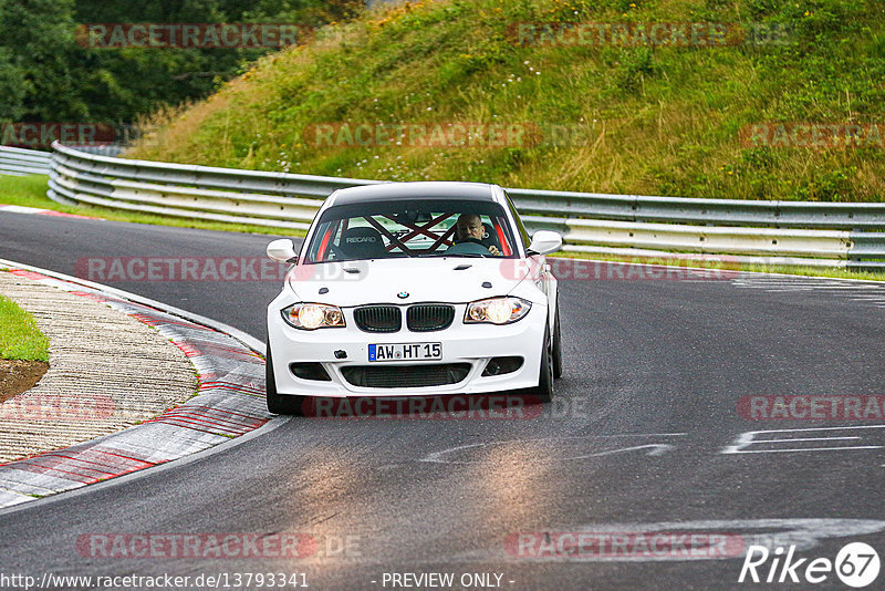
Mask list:
[[464,303],[506,296],[528,273],[519,259],[435,257],[300,265],[289,271],[287,282],[300,301],[341,307]]

